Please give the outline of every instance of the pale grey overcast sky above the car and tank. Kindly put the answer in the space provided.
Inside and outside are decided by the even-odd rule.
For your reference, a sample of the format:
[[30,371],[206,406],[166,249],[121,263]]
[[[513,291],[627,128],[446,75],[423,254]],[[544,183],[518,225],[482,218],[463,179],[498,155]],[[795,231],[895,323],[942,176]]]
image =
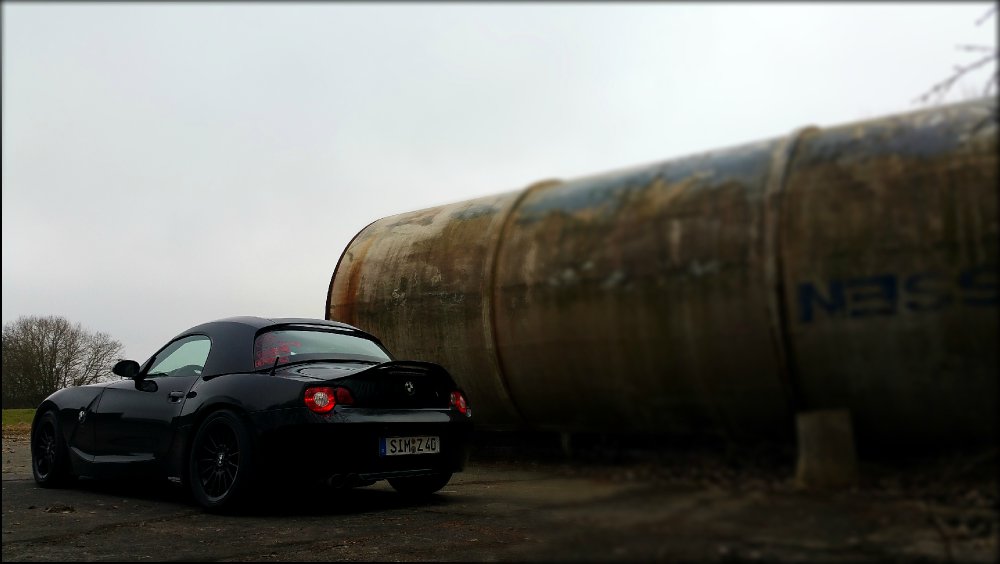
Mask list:
[[5,2],[3,322],[322,318],[375,219],[917,109],[992,5]]

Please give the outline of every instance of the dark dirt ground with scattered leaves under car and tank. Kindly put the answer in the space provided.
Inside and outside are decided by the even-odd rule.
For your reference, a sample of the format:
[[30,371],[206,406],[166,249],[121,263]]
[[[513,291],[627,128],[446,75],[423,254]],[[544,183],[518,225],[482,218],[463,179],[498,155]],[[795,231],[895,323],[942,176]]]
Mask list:
[[477,450],[425,502],[380,482],[202,512],[169,484],[45,490],[3,439],[3,561],[997,562],[995,449],[792,485],[786,452]]

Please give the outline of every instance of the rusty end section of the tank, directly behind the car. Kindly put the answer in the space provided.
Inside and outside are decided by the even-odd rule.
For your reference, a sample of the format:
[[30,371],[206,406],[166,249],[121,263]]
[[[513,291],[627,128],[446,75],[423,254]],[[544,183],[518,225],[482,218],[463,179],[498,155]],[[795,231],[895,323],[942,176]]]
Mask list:
[[518,424],[492,335],[494,255],[518,193],[377,221],[351,241],[327,297],[329,319],[350,319],[400,358],[445,366],[477,418]]

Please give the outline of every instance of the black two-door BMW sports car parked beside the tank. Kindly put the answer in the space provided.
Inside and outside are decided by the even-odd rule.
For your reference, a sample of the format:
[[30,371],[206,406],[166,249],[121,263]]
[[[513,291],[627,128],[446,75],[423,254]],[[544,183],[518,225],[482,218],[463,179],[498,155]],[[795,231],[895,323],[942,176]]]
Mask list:
[[124,380],[65,388],[31,427],[35,481],[152,475],[209,509],[273,479],[435,492],[460,471],[472,411],[444,368],[364,331],[234,317],[184,331]]

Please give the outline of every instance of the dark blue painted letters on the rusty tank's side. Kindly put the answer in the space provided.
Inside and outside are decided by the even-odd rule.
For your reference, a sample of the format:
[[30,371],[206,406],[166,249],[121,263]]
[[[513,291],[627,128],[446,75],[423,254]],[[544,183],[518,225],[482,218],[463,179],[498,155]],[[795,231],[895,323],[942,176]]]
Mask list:
[[870,317],[953,306],[996,306],[997,265],[909,276],[878,274],[831,280],[825,285],[803,282],[798,286],[797,302],[800,323],[811,323],[823,316]]

